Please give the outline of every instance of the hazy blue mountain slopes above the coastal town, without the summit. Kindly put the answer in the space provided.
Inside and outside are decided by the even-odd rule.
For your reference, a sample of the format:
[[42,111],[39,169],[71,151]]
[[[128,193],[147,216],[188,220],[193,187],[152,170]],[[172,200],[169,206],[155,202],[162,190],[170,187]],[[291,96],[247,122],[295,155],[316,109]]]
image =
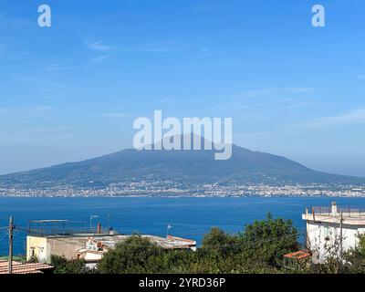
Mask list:
[[137,151],[126,149],[83,162],[68,162],[0,176],[2,185],[83,185],[97,187],[131,180],[177,180],[183,183],[353,183],[365,178],[316,172],[282,156],[233,145],[227,161],[215,151]]

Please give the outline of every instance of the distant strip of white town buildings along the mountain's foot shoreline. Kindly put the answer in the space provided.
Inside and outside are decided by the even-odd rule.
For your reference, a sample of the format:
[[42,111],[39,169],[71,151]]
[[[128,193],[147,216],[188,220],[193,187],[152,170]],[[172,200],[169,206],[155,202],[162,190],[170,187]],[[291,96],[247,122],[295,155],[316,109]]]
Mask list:
[[0,185],[0,196],[328,196],[363,197],[364,185],[327,184],[239,184],[239,183],[179,183],[166,181],[135,181],[110,183],[105,187],[58,184],[52,186],[27,187]]

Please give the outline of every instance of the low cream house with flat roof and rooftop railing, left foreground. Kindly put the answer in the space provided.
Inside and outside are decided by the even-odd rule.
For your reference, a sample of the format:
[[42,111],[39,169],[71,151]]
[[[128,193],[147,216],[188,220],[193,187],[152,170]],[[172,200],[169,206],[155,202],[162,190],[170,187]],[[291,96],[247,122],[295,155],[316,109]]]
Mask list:
[[[90,228],[75,228],[75,224],[68,220],[30,221],[26,236],[26,259],[36,257],[40,262],[50,263],[51,255],[63,255],[67,259],[83,258],[87,262],[96,262],[129,237],[117,234],[111,228],[104,229],[100,224],[94,230],[91,224]],[[172,235],[141,237],[149,238],[164,249],[196,249],[195,241]]]

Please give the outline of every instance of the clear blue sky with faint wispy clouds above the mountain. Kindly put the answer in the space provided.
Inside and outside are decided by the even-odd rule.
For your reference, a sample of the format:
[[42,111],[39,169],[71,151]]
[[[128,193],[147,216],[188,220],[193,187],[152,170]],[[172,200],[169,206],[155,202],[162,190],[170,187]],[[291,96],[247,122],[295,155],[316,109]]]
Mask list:
[[133,120],[162,110],[232,117],[235,144],[365,176],[364,14],[361,0],[2,0],[0,173],[131,147]]

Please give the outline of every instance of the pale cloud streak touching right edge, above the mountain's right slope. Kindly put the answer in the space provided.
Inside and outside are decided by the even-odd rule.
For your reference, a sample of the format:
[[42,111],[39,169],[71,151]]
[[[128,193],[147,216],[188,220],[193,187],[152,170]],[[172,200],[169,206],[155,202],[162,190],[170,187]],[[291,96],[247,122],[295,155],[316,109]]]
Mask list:
[[338,126],[365,123],[365,109],[349,110],[336,116],[321,117],[307,122],[306,127]]

